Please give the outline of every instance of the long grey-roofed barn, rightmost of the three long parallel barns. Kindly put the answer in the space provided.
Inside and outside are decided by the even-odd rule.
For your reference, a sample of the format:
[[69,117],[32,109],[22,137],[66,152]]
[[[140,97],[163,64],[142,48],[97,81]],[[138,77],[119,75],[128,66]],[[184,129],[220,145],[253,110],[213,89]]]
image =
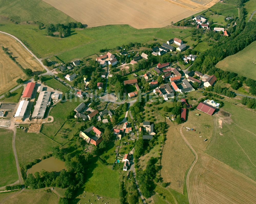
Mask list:
[[43,119],[45,116],[46,108],[50,106],[51,102],[51,92],[42,91],[39,93],[34,111],[32,113],[32,118]]

